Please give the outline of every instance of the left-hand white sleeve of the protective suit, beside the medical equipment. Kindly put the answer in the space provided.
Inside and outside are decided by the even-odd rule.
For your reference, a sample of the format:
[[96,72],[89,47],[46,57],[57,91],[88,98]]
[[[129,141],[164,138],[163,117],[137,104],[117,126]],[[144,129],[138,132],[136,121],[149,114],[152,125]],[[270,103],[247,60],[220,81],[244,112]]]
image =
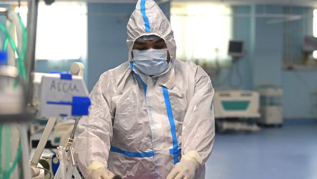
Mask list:
[[90,93],[89,116],[82,117],[76,130],[74,145],[75,159],[84,177],[88,177],[88,166],[99,161],[107,167],[110,142],[113,136],[114,112],[111,101],[102,90],[108,91],[109,84],[102,76]]

